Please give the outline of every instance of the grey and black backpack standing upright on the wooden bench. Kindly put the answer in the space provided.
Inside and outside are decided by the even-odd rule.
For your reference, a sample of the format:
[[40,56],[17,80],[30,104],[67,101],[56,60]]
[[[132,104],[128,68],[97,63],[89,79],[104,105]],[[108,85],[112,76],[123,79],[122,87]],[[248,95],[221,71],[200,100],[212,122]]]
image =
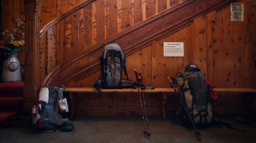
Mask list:
[[[96,89],[123,89],[133,87],[129,80],[125,65],[125,54],[118,44],[107,44],[104,47],[101,62],[101,77],[94,88]],[[123,72],[126,79],[123,79]]]

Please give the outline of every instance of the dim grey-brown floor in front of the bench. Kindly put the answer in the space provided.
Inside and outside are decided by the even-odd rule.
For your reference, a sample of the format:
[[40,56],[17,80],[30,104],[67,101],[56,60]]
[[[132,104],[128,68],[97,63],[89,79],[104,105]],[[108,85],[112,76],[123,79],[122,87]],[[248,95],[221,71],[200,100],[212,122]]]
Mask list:
[[[256,142],[256,127],[237,123],[232,116],[220,117],[220,120],[246,132],[225,126],[221,129],[208,127],[199,129],[201,142]],[[27,126],[1,128],[0,142],[198,142],[193,129],[161,118],[149,118],[150,140],[144,138],[140,117],[76,118],[71,123],[75,126],[71,132],[37,132],[29,123]]]

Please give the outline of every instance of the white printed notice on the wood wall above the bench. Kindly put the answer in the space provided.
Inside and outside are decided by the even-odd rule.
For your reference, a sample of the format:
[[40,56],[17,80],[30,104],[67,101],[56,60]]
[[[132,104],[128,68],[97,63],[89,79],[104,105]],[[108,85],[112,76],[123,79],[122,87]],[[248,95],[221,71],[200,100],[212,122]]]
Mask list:
[[184,57],[184,43],[164,42],[164,57]]

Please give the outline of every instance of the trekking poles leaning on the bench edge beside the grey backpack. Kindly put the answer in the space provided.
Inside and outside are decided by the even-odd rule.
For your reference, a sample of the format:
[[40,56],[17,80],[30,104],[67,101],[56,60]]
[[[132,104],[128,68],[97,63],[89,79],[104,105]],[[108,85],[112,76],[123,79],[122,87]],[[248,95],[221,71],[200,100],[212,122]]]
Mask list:
[[[146,136],[146,138],[149,139],[149,136],[151,136],[151,133],[149,133],[149,125],[148,125],[148,117],[146,114],[146,104],[145,104],[145,99],[144,99],[144,92],[143,90],[144,85],[142,84],[142,79],[141,79],[141,72],[138,73],[138,71],[136,69],[134,69],[134,72],[136,74],[136,80],[137,80],[137,86],[138,86],[138,93],[139,93],[139,97],[140,97],[140,107],[142,110],[142,119],[143,119],[143,126],[144,126],[144,135]],[[141,97],[141,92],[142,92],[142,97]],[[144,108],[142,106],[142,98],[143,98],[143,104],[144,104]],[[144,114],[145,113],[145,114]],[[145,118],[146,118],[146,123],[145,123]]]

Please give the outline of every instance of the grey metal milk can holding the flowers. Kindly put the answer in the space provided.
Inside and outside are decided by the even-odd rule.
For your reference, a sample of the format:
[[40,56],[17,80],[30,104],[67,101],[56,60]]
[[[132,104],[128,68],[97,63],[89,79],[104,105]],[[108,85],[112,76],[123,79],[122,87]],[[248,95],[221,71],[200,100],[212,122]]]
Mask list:
[[11,55],[2,63],[1,82],[21,82],[21,64],[16,55]]

